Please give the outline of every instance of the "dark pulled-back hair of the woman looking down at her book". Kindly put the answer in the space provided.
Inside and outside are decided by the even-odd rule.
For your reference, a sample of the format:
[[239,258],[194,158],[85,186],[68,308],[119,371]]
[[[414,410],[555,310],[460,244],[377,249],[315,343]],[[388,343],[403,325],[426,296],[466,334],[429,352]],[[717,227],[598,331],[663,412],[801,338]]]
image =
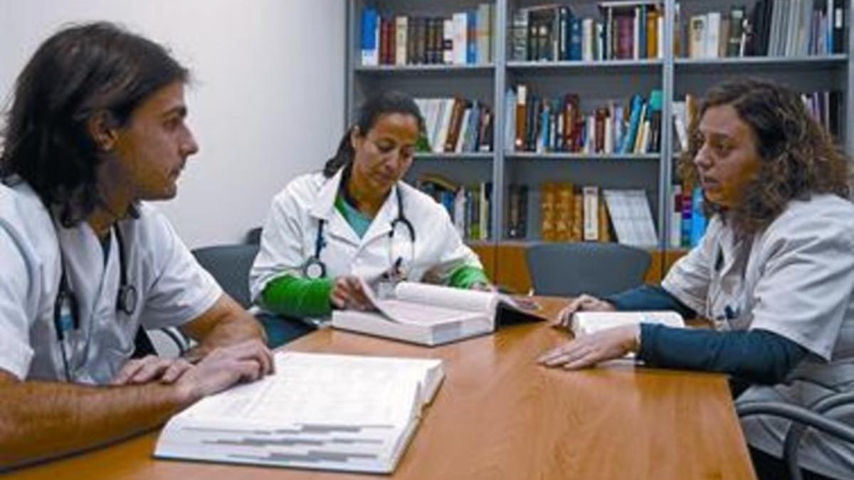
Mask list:
[[353,132],[354,127],[359,127],[361,135],[367,135],[367,132],[370,132],[377,123],[377,119],[384,114],[412,115],[418,120],[418,132],[424,131],[424,117],[412,97],[401,91],[381,91],[369,97],[359,108],[355,125],[350,126],[347,132],[344,132],[341,142],[338,143],[335,156],[326,161],[323,169],[326,178],[332,177],[341,167],[346,167],[353,162],[355,151],[353,145],[350,144],[350,132]]

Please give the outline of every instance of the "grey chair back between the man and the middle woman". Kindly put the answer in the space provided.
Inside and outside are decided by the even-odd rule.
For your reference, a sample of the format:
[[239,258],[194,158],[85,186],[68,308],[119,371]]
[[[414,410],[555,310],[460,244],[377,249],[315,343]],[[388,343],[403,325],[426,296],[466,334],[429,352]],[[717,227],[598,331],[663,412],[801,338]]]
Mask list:
[[213,275],[231,298],[249,308],[249,270],[258,255],[258,245],[217,245],[193,250],[196,260]]

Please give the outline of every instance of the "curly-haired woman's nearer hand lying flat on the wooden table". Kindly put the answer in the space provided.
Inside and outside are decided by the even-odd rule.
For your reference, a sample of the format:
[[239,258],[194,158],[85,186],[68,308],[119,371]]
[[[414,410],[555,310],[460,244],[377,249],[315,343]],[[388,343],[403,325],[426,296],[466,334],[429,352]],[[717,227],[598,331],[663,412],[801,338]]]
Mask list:
[[562,366],[575,370],[600,361],[618,359],[638,348],[640,325],[623,325],[597,331],[549,350],[537,361],[544,366]]

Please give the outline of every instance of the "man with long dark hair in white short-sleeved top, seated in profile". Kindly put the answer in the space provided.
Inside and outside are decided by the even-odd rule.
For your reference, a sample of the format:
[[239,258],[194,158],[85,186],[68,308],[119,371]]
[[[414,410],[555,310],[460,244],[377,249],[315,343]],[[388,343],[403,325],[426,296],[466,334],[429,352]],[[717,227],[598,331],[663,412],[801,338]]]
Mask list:
[[[20,73],[0,155],[0,471],[162,424],[272,370],[263,331],[149,200],[198,150],[188,71],[107,23],[71,26]],[[190,358],[130,360],[141,327]]]

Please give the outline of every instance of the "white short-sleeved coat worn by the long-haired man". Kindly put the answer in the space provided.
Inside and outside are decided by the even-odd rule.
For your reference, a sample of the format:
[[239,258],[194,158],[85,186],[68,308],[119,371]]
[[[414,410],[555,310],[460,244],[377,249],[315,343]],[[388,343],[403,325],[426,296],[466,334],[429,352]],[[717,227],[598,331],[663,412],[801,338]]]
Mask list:
[[65,340],[74,382],[108,383],[133,353],[139,325],[181,325],[213,307],[222,295],[216,281],[162,214],[146,203],[138,209],[138,219],[120,222],[126,275],[137,290],[137,307],[127,315],[116,310],[120,261],[114,231],[105,262],[89,224],[58,226],[26,183],[0,184],[0,369],[21,380],[66,380],[53,314],[60,245],[81,313],[79,329],[68,331]]

